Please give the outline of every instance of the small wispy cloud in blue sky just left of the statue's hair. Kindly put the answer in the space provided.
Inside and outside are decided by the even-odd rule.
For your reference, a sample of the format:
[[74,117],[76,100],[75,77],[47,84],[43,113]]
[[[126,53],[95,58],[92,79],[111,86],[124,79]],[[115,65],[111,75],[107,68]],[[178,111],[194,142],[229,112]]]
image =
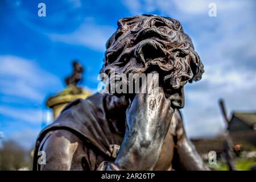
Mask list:
[[49,34],[53,41],[85,46],[96,51],[105,51],[105,44],[115,28],[98,25],[92,20],[85,20],[77,30],[68,34]]

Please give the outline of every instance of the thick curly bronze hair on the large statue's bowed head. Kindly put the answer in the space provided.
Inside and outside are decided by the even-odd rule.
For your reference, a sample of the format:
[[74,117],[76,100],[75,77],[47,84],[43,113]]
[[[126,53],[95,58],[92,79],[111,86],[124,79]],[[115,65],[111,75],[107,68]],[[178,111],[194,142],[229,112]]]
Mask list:
[[117,31],[106,43],[104,61],[101,73],[107,75],[110,70],[127,75],[157,67],[164,73],[163,81],[174,89],[181,81],[200,80],[204,73],[204,65],[181,23],[158,15],[119,19]]

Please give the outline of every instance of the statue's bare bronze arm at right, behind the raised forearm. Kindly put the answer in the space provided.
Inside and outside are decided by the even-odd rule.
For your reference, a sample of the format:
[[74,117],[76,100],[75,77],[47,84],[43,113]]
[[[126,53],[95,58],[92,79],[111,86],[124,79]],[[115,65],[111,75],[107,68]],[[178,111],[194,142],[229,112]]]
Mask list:
[[183,170],[204,171],[209,170],[203,159],[197,152],[193,143],[185,134],[183,121],[179,111],[175,111],[177,119],[177,154],[179,155],[179,167]]

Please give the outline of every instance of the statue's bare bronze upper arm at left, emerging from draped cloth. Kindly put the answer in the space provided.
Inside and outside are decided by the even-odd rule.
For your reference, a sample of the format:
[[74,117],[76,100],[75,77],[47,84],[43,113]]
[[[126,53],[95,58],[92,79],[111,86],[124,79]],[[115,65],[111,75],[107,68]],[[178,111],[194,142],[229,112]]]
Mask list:
[[53,131],[40,150],[46,154],[46,164],[40,165],[40,171],[84,170],[81,162],[81,157],[85,155],[82,141],[70,131]]

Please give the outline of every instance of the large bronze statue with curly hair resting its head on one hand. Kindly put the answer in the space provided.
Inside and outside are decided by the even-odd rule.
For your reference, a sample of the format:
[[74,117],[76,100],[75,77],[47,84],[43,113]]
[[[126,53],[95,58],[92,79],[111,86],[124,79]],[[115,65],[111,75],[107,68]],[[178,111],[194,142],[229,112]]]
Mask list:
[[[123,18],[106,48],[101,73],[159,73],[141,84],[151,91],[158,82],[158,92],[96,93],[71,102],[39,134],[34,170],[208,169],[179,111],[183,86],[204,72],[181,24],[158,15]],[[39,151],[46,152],[45,165],[38,164]]]

